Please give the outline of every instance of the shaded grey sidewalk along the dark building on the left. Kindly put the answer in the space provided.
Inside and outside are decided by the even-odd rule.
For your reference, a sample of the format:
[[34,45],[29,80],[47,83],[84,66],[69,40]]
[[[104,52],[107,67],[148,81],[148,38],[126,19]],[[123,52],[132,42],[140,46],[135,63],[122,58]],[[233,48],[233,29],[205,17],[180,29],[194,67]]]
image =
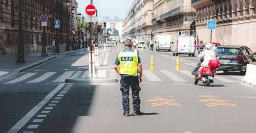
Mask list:
[[[84,50],[84,49],[79,49]],[[25,53],[26,63],[16,63],[17,54],[8,54],[0,56],[0,76],[6,75],[7,73],[18,73],[20,71],[29,69],[33,66],[42,64],[46,61],[54,59],[61,55],[68,55],[77,50],[66,51],[65,47],[60,48],[60,54],[54,54],[51,49],[47,49],[48,57],[41,57],[41,51],[31,51]]]

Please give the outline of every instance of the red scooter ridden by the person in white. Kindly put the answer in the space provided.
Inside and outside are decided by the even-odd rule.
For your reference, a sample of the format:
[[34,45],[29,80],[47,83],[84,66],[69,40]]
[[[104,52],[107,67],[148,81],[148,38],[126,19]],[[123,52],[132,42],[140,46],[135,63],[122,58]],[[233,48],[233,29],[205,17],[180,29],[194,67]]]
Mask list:
[[208,66],[202,68],[200,72],[201,76],[196,77],[195,85],[197,85],[199,81],[202,81],[204,86],[209,86],[211,83],[214,83],[214,76],[219,68],[220,62],[218,60],[210,60]]

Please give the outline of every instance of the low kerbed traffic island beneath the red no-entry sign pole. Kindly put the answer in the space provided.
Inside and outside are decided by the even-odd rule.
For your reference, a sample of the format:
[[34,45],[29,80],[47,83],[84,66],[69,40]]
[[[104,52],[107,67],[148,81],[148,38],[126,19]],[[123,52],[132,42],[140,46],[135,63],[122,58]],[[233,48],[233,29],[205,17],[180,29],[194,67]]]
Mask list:
[[67,83],[116,83],[117,78],[66,78]]

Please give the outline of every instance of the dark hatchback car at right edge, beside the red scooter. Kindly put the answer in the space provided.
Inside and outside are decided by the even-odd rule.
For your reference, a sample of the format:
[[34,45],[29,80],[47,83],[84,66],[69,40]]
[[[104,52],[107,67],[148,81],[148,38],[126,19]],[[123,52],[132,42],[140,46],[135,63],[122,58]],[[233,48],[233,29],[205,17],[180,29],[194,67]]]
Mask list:
[[224,72],[240,71],[246,72],[246,65],[256,61],[256,53],[253,54],[247,46],[221,45],[215,50],[216,56],[220,58],[220,69]]

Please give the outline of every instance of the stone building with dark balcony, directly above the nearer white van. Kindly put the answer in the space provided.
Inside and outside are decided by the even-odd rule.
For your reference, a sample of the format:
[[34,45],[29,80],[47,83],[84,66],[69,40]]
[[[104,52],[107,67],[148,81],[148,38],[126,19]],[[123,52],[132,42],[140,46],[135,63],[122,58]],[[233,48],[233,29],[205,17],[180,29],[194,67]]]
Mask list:
[[191,35],[195,19],[196,10],[190,0],[154,0],[154,40],[158,40],[159,35],[169,35],[171,41],[180,33]]

